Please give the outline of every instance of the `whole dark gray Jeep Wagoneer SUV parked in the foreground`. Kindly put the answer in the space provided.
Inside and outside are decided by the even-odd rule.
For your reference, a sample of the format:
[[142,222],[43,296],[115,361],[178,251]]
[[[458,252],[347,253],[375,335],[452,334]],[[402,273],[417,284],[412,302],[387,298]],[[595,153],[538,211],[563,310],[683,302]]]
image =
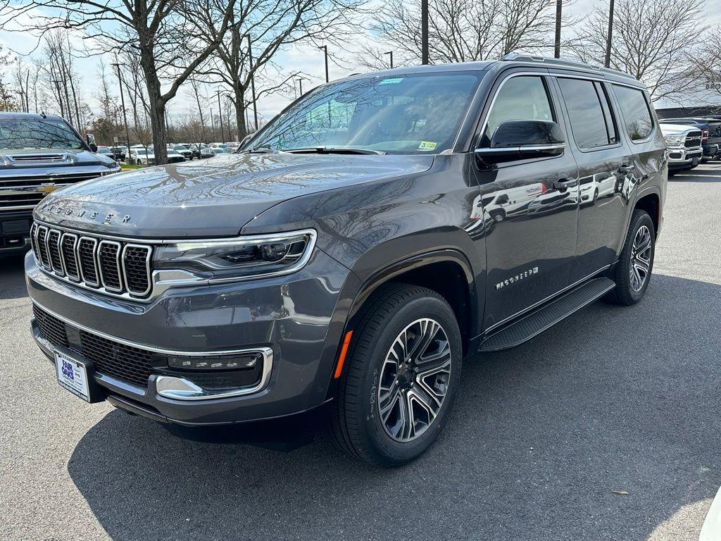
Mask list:
[[647,91],[618,71],[350,76],[234,154],[45,198],[32,333],[89,402],[190,437],[322,411],[348,454],[400,465],[446,424],[465,357],[642,299],[667,176]]

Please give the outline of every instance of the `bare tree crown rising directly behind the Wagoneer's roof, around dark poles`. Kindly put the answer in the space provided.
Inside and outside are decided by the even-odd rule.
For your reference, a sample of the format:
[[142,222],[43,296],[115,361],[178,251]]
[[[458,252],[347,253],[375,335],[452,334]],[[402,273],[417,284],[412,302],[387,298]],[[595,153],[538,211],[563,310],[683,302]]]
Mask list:
[[[499,58],[519,50],[552,48],[556,0],[429,0],[428,50],[431,63]],[[362,47],[361,63],[388,67],[419,63],[420,0],[389,0],[370,30],[377,43]]]

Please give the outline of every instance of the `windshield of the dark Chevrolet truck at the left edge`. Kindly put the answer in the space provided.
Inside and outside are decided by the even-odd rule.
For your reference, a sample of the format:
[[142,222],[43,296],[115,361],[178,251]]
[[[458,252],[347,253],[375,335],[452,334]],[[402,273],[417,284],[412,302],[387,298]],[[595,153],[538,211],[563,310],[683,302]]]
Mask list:
[[84,149],[63,120],[22,118],[0,120],[0,149]]

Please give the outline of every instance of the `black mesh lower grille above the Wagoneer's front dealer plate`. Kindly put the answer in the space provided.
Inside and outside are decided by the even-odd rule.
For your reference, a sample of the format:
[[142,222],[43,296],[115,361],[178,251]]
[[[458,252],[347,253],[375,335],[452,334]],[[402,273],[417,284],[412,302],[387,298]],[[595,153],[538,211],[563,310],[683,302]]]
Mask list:
[[[125,346],[115,340],[76,329],[48,314],[36,304],[32,305],[32,312],[40,333],[53,346],[69,348],[92,361],[95,370],[100,374],[122,379],[138,387],[147,387],[152,372],[150,351]],[[79,335],[79,341],[68,340],[68,330],[73,335]]]

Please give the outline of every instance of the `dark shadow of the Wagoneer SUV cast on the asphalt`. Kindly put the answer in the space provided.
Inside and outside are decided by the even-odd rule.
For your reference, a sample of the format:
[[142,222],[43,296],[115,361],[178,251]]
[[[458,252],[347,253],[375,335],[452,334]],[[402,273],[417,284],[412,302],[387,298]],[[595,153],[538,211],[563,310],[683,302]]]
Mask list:
[[324,436],[214,446],[120,411],[68,470],[114,540],[646,540],[721,483],[719,307],[721,286],[655,275],[635,307],[469,359],[451,423],[398,470]]

